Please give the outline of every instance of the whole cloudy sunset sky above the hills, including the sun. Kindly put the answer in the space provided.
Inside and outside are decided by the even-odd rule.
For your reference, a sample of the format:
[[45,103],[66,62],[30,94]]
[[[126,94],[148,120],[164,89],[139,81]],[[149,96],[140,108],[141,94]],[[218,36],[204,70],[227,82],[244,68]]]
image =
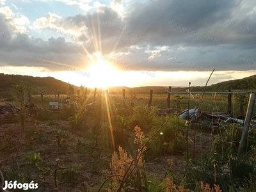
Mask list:
[[253,0],[0,0],[0,73],[76,86],[204,86],[256,74]]

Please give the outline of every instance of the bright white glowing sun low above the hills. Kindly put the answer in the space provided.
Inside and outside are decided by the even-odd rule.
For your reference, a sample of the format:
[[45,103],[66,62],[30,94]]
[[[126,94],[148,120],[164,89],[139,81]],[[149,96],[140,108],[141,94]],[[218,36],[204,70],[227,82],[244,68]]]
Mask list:
[[90,72],[90,78],[88,79],[91,87],[107,88],[113,86],[116,83],[116,73],[118,72],[115,67],[112,67],[109,63],[98,60],[90,65],[88,68]]

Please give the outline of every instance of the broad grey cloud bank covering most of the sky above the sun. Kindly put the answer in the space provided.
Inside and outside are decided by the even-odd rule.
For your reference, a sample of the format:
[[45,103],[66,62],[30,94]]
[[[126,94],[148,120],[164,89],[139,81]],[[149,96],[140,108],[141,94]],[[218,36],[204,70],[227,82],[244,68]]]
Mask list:
[[[101,51],[103,56],[141,70],[255,69],[246,65],[256,60],[253,1],[157,0],[129,2],[129,6],[121,0],[109,5],[61,2],[84,4],[90,12],[69,16],[49,12],[29,20],[8,6],[0,8],[1,65],[58,70],[58,66],[36,60],[35,55],[40,54],[47,60],[84,68],[96,60],[87,54]],[[31,24],[31,30],[44,37],[28,35]]]

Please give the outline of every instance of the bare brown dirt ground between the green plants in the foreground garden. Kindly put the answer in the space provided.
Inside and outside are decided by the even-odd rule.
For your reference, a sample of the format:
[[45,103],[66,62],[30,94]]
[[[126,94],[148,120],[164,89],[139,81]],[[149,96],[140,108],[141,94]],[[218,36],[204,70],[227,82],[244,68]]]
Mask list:
[[[69,192],[81,191],[82,182],[86,182],[92,188],[100,186],[103,182],[100,179],[102,171],[109,168],[108,160],[111,158],[111,153],[106,151],[102,154],[102,149],[94,148],[90,141],[83,143],[77,140],[77,138],[83,138],[83,134],[81,131],[72,129],[68,121],[51,122],[50,128],[46,127],[47,124],[49,122],[33,120],[26,122],[24,130],[19,123],[0,125],[0,170],[14,170],[17,174],[26,173],[40,186],[44,186],[45,191],[51,192],[55,191],[54,170],[68,167],[70,164],[80,164],[76,187],[70,186],[63,179],[58,179],[59,189]],[[69,135],[62,137],[58,130],[67,131]],[[209,150],[211,146],[209,136],[209,134],[205,136],[202,134],[196,137],[196,157],[200,157],[200,154]],[[193,140],[193,135],[189,137]],[[198,138],[201,138],[202,142],[199,142]],[[79,148],[81,145],[83,145],[82,149]],[[193,150],[193,145],[189,150]],[[33,164],[36,160],[26,158],[29,154],[35,153],[40,153],[42,158],[42,163],[39,165]],[[184,157],[161,156],[145,164],[148,173],[163,179],[168,170],[167,159],[178,159],[178,163],[173,168],[180,173],[184,172],[184,161],[186,161]]]

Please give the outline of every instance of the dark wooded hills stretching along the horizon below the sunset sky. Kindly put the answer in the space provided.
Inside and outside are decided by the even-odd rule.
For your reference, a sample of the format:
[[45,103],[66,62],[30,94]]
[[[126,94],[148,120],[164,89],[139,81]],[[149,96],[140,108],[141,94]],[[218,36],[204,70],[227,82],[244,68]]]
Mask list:
[[[20,76],[20,75],[5,75],[0,74],[0,97],[10,97],[10,90],[12,84],[19,84],[21,81],[26,81],[35,86],[36,88],[41,88],[48,93],[55,93],[56,89],[61,92],[61,94],[68,94],[69,87],[73,86],[74,93],[79,90],[78,86],[70,85],[54,77],[33,77],[33,76]],[[129,88],[126,86],[110,86],[108,87],[109,92],[122,93],[122,89],[125,89],[126,93],[129,90],[132,93],[149,93],[153,90],[153,93],[166,93],[168,86],[141,86],[135,88]],[[172,91],[177,92],[180,90],[186,90],[186,87],[172,87]],[[207,86],[207,91],[227,91],[231,90],[256,90],[256,75],[245,77],[243,79],[236,79],[230,81],[224,81],[221,83],[212,84]],[[93,88],[88,88],[88,93],[93,92]],[[99,89],[98,89],[99,90]],[[203,91],[204,86],[192,86],[191,91]]]

